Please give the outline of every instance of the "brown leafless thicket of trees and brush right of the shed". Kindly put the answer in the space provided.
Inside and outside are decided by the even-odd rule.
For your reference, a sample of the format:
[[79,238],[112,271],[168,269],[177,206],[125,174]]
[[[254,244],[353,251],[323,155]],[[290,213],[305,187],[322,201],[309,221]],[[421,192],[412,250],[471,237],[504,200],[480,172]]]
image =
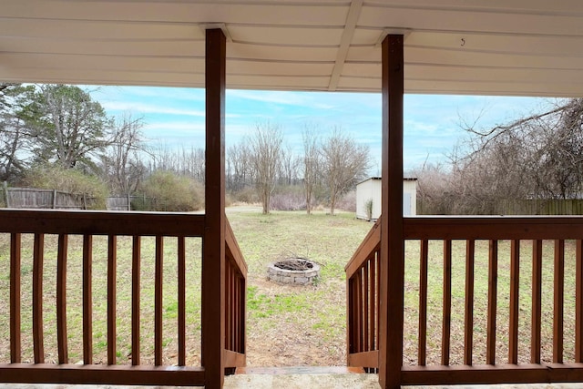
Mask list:
[[419,210],[426,214],[496,214],[508,200],[583,198],[583,99],[481,130],[450,163],[416,169]]

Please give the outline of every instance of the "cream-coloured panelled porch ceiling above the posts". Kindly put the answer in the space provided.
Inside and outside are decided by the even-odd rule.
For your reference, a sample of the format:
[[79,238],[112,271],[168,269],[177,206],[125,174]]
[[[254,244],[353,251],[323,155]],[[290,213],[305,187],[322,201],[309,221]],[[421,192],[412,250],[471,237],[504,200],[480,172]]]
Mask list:
[[0,0],[0,81],[204,87],[204,26],[230,88],[377,92],[406,29],[408,93],[583,95],[580,0]]

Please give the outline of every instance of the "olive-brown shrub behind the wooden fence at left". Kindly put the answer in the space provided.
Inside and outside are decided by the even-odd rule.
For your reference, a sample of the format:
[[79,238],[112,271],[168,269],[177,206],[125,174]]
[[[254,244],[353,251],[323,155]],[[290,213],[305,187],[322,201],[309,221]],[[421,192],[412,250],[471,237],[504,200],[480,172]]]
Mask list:
[[59,165],[39,165],[26,171],[24,182],[37,189],[53,189],[83,195],[91,199],[87,208],[105,210],[108,196],[107,184],[97,176]]

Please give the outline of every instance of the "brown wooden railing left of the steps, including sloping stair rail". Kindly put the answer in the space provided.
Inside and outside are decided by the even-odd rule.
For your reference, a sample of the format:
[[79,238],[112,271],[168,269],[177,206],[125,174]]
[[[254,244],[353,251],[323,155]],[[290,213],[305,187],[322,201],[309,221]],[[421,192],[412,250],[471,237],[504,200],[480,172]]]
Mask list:
[[[187,278],[187,266],[200,261],[195,253],[189,251],[188,241],[197,238],[202,241],[204,236],[204,215],[178,214],[178,213],[138,213],[138,212],[97,212],[97,211],[31,211],[31,210],[0,210],[0,233],[9,234],[10,245],[10,363],[0,364],[0,381],[4,383],[68,383],[68,384],[150,384],[150,385],[205,385],[205,369],[195,365],[192,361],[195,357],[193,350],[189,349],[187,337],[192,334],[187,331],[187,288],[192,290],[192,282],[200,284],[200,280]],[[46,236],[56,235],[56,266],[46,266],[45,245]],[[81,236],[77,238],[72,236]],[[94,308],[100,302],[93,295],[94,282],[100,282],[93,275],[94,253],[103,251],[100,245],[94,245],[93,241],[98,236],[107,237],[107,340],[101,347],[107,348],[107,357],[94,361],[96,331],[93,325],[95,320]],[[125,238],[128,236],[129,238]],[[118,266],[118,237],[123,240],[131,240],[130,253],[125,252],[125,259],[131,263],[123,263],[129,267],[131,275],[125,277],[131,283],[130,296],[121,295],[118,290],[125,285],[117,280]],[[154,246],[153,253],[153,279],[143,276],[142,269],[144,238],[148,238],[148,244]],[[22,260],[24,241],[32,240],[32,287],[23,288]],[[82,240],[82,254],[80,261],[70,258],[67,253],[68,242],[71,239]],[[103,238],[96,238],[100,241]],[[196,241],[196,240],[195,240]],[[176,275],[171,275],[172,290],[176,290],[177,314],[167,317],[168,306],[164,305],[167,297],[163,293],[169,276],[164,277],[167,271],[168,250],[165,243],[170,242],[176,246],[176,258],[172,259],[172,266],[176,266]],[[240,366],[245,363],[245,278],[246,265],[240,253],[237,241],[234,238],[230,226],[226,225],[225,234],[225,310],[226,315],[226,350],[225,365]],[[200,244],[198,245],[200,247]],[[52,247],[50,250],[54,250]],[[28,253],[26,254],[28,255]],[[97,254],[96,254],[97,255]],[[128,258],[129,257],[129,258]],[[26,257],[25,257],[26,258]],[[170,261],[168,261],[170,262]],[[172,268],[173,269],[173,268]],[[53,273],[51,273],[53,271]],[[56,274],[54,274],[56,272]],[[73,333],[67,332],[67,284],[72,283],[69,273],[81,274],[77,283],[82,287],[82,329],[81,336],[76,339]],[[56,319],[55,322],[47,322],[43,318],[46,311],[46,294],[44,282],[47,277],[56,279]],[[145,325],[145,314],[140,302],[143,301],[141,293],[145,289],[153,290],[153,339],[144,339],[140,336],[140,327]],[[48,293],[50,293],[49,291]],[[210,296],[216,299],[216,296]],[[131,300],[130,312],[126,313],[130,322],[129,344],[120,344],[118,338],[118,303],[123,300]],[[23,300],[32,301],[32,360],[23,360],[23,333],[22,309]],[[220,300],[217,300],[220,303]],[[190,302],[192,306],[192,302]],[[190,308],[192,310],[192,308]],[[150,316],[148,315],[148,318]],[[175,319],[172,319],[175,318]],[[150,319],[151,320],[151,319]],[[174,323],[168,324],[168,322]],[[199,319],[198,319],[199,322]],[[176,354],[169,355],[168,326],[173,327],[172,333],[176,333]],[[56,333],[56,350],[51,351],[50,361],[47,360],[45,351],[45,338],[47,333]],[[208,335],[207,335],[208,336]],[[28,342],[28,341],[27,341]],[[200,342],[205,342],[204,328],[200,335]],[[78,357],[69,356],[69,350],[80,345],[82,361],[77,363]],[[104,342],[100,342],[104,343]],[[152,344],[153,343],[153,344]],[[118,346],[121,346],[118,348]],[[130,360],[126,364],[118,364],[120,350],[130,350]],[[151,350],[151,352],[150,352]],[[200,350],[198,346],[197,351]],[[140,351],[149,358],[146,363],[140,361]],[[53,357],[56,353],[56,357]],[[150,355],[153,354],[153,355]],[[124,354],[125,356],[125,354]],[[190,361],[189,361],[190,357]],[[33,363],[29,363],[33,362]],[[123,362],[121,362],[123,363]]]

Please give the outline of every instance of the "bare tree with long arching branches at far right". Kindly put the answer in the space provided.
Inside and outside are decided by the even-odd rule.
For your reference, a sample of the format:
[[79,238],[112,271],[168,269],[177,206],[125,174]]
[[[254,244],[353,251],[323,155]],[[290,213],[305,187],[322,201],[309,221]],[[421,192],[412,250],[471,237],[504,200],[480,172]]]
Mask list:
[[[487,165],[490,199],[568,199],[583,190],[583,99],[475,134],[460,169]],[[471,163],[470,163],[471,162]]]

